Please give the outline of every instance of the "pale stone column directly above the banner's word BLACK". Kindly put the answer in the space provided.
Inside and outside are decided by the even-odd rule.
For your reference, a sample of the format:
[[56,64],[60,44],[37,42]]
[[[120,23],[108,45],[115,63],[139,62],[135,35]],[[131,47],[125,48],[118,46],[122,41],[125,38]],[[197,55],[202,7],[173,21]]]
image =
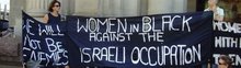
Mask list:
[[148,14],[180,13],[187,11],[187,0],[149,0]]

